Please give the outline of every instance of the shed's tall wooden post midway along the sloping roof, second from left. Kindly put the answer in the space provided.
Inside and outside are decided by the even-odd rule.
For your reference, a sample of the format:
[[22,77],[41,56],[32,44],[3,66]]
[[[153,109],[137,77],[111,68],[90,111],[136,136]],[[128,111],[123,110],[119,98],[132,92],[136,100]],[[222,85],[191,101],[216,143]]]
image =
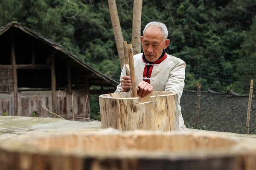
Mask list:
[[52,112],[56,113],[56,77],[54,54],[51,56],[51,77],[52,77]]

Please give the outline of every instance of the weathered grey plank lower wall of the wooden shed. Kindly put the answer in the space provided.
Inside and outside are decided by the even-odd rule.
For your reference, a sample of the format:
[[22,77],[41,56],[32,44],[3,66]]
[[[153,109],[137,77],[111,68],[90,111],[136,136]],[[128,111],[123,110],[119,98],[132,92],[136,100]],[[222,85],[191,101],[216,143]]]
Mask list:
[[[87,100],[87,101],[86,101]],[[56,91],[56,113],[65,119],[76,117],[90,118],[90,101],[85,91]],[[13,94],[0,94],[0,115],[6,112],[14,116]],[[51,91],[20,91],[18,92],[18,116],[32,116],[34,112],[40,117],[54,117]],[[86,108],[85,108],[86,107]],[[49,111],[47,111],[47,109]],[[83,120],[83,119],[81,119]]]

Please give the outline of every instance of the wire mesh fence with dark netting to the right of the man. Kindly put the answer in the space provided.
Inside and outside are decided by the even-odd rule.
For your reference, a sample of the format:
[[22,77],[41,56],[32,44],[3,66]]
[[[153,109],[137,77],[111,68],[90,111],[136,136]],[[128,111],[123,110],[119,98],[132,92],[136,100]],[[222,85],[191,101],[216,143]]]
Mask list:
[[[255,79],[255,72],[256,59],[253,58],[187,66],[185,88],[180,100],[185,125],[203,130],[245,133],[250,81]],[[198,85],[201,85],[200,93]],[[256,134],[254,95],[249,120],[248,132]]]

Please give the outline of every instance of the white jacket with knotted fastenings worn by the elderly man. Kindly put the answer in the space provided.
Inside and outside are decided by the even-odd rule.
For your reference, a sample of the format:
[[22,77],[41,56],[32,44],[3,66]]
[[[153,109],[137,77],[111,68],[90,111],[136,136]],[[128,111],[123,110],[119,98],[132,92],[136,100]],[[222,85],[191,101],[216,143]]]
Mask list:
[[[143,72],[145,63],[142,59],[143,53],[134,55],[134,71],[136,77],[136,85],[143,80]],[[154,91],[173,91],[177,93],[178,102],[180,103],[180,97],[184,88],[185,79],[185,68],[186,63],[177,57],[167,54],[166,59],[157,65],[153,65],[151,70],[151,76],[148,81],[153,86]],[[145,73],[144,73],[145,74]],[[121,77],[126,75],[125,67],[123,67],[121,72]],[[121,83],[117,85],[115,93],[122,90]],[[184,125],[183,117],[181,114],[181,108],[178,108],[179,115],[179,130],[186,131],[186,126]]]

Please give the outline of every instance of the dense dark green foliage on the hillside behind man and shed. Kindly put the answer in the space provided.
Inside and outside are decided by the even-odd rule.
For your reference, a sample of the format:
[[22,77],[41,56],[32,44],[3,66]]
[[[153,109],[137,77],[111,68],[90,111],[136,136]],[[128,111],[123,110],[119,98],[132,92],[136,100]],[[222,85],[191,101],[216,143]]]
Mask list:
[[[130,43],[133,0],[116,0],[116,5],[124,40]],[[119,79],[121,68],[107,0],[0,0],[0,18],[0,26],[17,20]],[[244,76],[239,61],[233,62],[239,58],[250,58],[240,60],[243,64],[256,61],[256,0],[143,0],[142,29],[153,20],[166,23],[169,29],[167,53],[187,64],[185,89],[197,80],[204,82],[203,90],[218,84],[216,91],[237,89],[243,94],[239,83],[256,77],[253,72]],[[198,65],[207,65],[206,78],[197,77],[192,69]],[[230,75],[228,83],[218,79],[223,72]],[[97,97],[90,99],[95,118],[99,117]]]

